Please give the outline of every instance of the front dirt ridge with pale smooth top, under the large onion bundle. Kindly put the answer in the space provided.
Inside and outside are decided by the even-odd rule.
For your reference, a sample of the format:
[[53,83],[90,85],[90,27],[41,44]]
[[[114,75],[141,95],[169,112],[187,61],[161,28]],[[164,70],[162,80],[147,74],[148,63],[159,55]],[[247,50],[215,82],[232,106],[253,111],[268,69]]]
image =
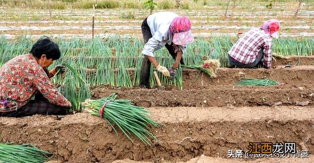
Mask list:
[[[1,142],[32,143],[69,163],[131,159],[188,161],[204,154],[227,158],[229,149],[248,149],[248,142],[296,142],[298,150],[314,152],[314,111],[311,107],[148,108],[151,128],[160,140],[154,147],[121,132],[118,137],[105,122],[87,113],[55,116],[0,117]],[[219,159],[217,159],[219,160]]]

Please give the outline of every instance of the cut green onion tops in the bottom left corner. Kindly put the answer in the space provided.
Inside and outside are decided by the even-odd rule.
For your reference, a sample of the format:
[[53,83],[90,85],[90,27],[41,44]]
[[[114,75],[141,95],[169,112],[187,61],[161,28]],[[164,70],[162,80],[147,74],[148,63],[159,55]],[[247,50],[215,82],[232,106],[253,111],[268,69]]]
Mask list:
[[0,143],[0,163],[44,163],[50,160],[49,154],[31,144]]

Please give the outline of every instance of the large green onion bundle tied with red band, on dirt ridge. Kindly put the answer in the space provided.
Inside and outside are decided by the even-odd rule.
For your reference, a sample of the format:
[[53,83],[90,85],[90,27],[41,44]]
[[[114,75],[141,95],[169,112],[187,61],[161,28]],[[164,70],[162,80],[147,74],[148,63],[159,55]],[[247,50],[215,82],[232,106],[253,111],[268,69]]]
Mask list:
[[[143,107],[134,106],[130,100],[116,99],[115,93],[108,97],[86,100],[84,105],[91,115],[103,117],[113,130],[114,123],[120,130],[131,140],[130,135],[133,135],[143,141],[146,145],[152,145],[153,140],[157,138],[149,131],[149,125],[159,127],[160,124],[152,120],[148,115],[148,111]],[[131,140],[134,142],[133,140]]]

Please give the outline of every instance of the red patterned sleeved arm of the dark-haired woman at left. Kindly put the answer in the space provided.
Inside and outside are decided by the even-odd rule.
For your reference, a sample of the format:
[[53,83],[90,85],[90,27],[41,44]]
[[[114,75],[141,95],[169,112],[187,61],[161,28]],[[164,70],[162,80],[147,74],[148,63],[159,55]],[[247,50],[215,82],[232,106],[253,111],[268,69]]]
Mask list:
[[64,107],[71,107],[71,103],[66,99],[57,89],[52,85],[47,74],[43,69],[34,70],[34,74],[31,77],[33,85],[43,94],[45,98],[52,104]]

